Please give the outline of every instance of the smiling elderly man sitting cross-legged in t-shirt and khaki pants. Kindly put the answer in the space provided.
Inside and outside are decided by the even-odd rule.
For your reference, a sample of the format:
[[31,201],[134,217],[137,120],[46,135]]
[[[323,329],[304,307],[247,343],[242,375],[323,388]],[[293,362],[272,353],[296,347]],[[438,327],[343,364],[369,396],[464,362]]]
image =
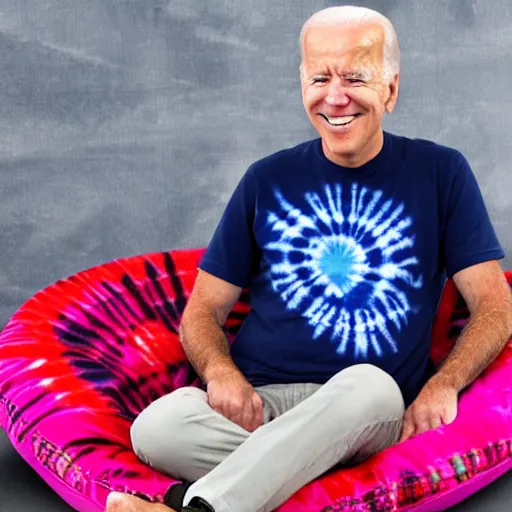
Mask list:
[[[138,456],[183,480],[178,511],[272,511],[337,464],[453,422],[458,393],[512,331],[503,257],[457,151],[384,132],[399,89],[391,23],[334,7],[301,33],[302,96],[320,138],[253,164],[201,261],[181,339],[205,390],[151,404]],[[446,275],[471,311],[427,365]],[[221,326],[243,287],[233,346]],[[169,511],[113,493],[109,511]]]

